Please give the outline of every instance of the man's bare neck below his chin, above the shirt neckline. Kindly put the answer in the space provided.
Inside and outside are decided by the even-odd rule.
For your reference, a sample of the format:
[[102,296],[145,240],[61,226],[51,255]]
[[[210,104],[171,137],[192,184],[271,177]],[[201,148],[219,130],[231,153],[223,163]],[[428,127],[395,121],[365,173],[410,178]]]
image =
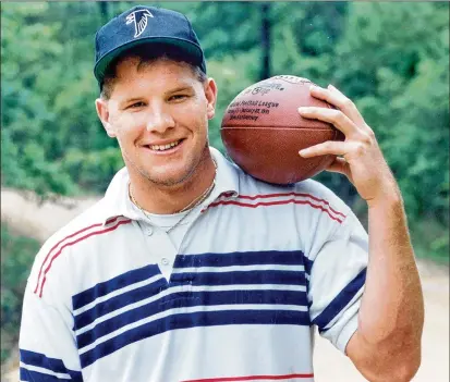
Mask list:
[[216,165],[206,150],[193,173],[182,183],[165,186],[130,173],[130,190],[136,202],[150,213],[170,214],[180,212],[211,186]]

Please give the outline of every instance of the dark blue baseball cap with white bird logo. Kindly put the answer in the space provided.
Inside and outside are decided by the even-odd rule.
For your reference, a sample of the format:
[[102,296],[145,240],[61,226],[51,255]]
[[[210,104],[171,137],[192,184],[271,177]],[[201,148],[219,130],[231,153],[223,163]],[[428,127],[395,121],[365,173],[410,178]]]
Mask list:
[[166,45],[180,49],[188,62],[206,74],[205,56],[198,38],[186,16],[182,13],[136,5],[115,16],[95,36],[94,75],[104,83],[108,65],[124,51],[138,45]]

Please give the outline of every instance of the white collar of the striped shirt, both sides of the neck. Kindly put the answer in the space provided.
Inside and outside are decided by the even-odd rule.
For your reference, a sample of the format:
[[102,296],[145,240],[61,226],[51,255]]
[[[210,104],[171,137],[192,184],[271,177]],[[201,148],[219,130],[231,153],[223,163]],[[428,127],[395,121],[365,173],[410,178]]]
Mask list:
[[[239,195],[239,169],[230,163],[219,150],[210,147],[212,159],[217,164],[216,186],[208,197],[207,205],[214,202],[217,198],[226,194],[227,196],[236,197]],[[134,208],[130,200],[129,194],[130,176],[126,168],[119,170],[114,175],[104,197],[104,217],[102,223],[106,224],[110,219],[115,217],[125,217],[132,220],[142,218],[139,211]]]

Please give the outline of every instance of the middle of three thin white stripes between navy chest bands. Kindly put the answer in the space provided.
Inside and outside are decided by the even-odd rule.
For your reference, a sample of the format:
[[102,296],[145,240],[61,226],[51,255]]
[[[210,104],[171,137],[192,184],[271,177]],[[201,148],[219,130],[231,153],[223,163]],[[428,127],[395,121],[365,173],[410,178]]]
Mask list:
[[[245,285],[214,285],[214,286],[205,286],[205,285],[199,285],[199,286],[187,286],[186,285],[181,285],[181,286],[174,286],[170,287],[158,295],[142,299],[141,301],[130,304],[125,307],[122,307],[120,309],[117,309],[114,311],[111,311],[105,316],[98,317],[94,322],[89,323],[86,326],[83,326],[75,331],[75,335],[83,334],[89,330],[92,330],[94,326],[97,324],[105,322],[113,317],[117,317],[119,315],[122,315],[126,311],[136,309],[138,307],[142,307],[143,305],[150,304],[153,301],[156,301],[162,297],[166,297],[168,295],[174,294],[174,293],[180,293],[180,292],[226,292],[226,291],[293,291],[293,292],[306,292],[306,286],[304,285],[279,285],[279,284],[258,284],[258,285],[251,285],[251,284],[245,284]],[[234,305],[233,305],[234,306]],[[259,305],[254,305],[255,307],[259,307]],[[157,315],[158,316],[158,315]]]

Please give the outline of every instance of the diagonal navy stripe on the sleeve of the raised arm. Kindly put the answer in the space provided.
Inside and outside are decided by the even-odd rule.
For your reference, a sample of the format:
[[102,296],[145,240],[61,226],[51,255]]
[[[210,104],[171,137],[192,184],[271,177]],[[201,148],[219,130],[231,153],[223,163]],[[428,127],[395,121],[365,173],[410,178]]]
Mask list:
[[340,311],[351,301],[357,292],[364,286],[366,282],[366,271],[363,269],[340,293],[335,299],[317,316],[313,323],[315,323],[319,331],[325,331],[330,321],[340,313]]

